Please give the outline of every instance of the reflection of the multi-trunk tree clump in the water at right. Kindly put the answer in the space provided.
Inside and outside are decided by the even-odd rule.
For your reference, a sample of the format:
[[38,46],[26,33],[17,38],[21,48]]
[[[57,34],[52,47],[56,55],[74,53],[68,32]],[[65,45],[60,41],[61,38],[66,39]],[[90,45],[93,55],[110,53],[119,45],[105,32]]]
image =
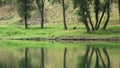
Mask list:
[[79,62],[78,68],[111,68],[110,56],[106,48],[87,46],[85,55],[79,60],[82,61]]

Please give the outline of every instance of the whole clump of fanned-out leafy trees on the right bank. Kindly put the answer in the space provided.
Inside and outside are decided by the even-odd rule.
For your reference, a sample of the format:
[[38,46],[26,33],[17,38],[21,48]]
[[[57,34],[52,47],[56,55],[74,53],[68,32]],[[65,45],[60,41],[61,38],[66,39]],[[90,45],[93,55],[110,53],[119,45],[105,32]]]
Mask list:
[[[110,19],[110,0],[73,0],[73,5],[74,8],[78,8],[77,15],[79,16],[79,20],[84,23],[87,32],[98,30],[105,16],[106,20],[102,29],[106,29]],[[95,25],[93,25],[94,21],[91,19],[91,16],[93,16],[91,15],[93,13],[91,9],[94,9]],[[101,12],[102,15],[100,15]]]

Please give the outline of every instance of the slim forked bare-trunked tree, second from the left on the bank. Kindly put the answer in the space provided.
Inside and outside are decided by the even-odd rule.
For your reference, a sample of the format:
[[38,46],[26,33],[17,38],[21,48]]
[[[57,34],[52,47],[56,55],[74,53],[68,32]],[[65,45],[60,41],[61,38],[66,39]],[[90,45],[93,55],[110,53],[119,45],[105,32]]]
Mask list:
[[41,28],[44,28],[44,4],[45,0],[36,0],[39,12],[41,14]]

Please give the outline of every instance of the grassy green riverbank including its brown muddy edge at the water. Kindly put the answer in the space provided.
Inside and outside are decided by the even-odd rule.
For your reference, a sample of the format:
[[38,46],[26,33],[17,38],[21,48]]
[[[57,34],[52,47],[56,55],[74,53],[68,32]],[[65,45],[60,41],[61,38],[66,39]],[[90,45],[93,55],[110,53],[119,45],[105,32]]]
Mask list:
[[[68,30],[64,30],[62,25],[47,25],[44,29],[39,26],[29,26],[28,29],[25,29],[23,25],[0,26],[0,39],[120,41],[120,26],[108,26],[106,30],[91,33],[86,33],[84,26],[68,26]],[[73,29],[74,27],[76,29]]]

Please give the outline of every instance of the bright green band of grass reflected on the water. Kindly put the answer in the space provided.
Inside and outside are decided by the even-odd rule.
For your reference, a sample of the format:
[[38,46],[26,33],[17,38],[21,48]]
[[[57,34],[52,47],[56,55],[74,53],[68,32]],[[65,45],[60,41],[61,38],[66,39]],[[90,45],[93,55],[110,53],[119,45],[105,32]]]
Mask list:
[[93,46],[99,48],[120,48],[120,42],[103,42],[103,41],[81,41],[81,42],[56,42],[56,41],[18,41],[18,40],[1,40],[1,48],[86,48],[86,46]]

